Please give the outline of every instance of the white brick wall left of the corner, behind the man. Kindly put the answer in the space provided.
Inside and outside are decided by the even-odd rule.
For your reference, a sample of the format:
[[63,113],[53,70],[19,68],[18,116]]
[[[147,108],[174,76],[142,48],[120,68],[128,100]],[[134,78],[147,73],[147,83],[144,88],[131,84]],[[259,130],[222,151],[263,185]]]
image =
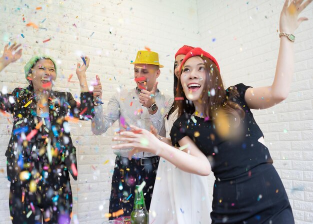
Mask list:
[[[42,9],[36,10],[37,7]],[[26,27],[30,22],[38,29]],[[42,43],[47,39],[51,40]],[[174,54],[183,44],[196,45],[198,40],[195,0],[0,0],[0,51],[8,41],[23,44],[22,59],[0,73],[0,89],[24,87],[23,66],[32,55],[41,52],[57,61],[56,89],[78,95],[75,67],[81,63],[80,53],[84,53],[91,59],[87,80],[95,80],[96,74],[100,76],[106,105],[117,88],[134,87],[133,66],[129,63],[138,50],[147,47],[159,53],[159,61],[164,65],[158,88],[172,94]],[[70,74],[74,83],[67,82]],[[4,156],[11,132],[8,120],[0,116],[0,223],[11,223]],[[110,147],[112,130],[95,136],[90,122],[71,124],[79,173],[77,181],[71,180],[71,223],[106,220],[115,158]]]

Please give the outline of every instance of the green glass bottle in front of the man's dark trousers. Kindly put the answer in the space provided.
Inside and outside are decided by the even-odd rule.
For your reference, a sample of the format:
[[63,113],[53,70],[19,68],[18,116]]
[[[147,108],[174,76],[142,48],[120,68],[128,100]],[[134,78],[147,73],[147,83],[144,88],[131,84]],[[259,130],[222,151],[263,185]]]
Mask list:
[[139,185],[136,185],[133,210],[130,214],[131,224],[149,224],[149,213],[145,208],[142,190],[139,192]]

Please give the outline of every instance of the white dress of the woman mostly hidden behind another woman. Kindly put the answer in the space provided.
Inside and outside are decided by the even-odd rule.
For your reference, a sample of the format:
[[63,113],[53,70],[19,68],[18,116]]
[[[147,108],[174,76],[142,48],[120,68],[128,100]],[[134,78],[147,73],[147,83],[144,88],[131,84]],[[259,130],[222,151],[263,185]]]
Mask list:
[[[177,118],[175,112],[165,121],[166,137]],[[184,172],[160,158],[149,209],[150,224],[211,223],[208,192],[207,176]]]

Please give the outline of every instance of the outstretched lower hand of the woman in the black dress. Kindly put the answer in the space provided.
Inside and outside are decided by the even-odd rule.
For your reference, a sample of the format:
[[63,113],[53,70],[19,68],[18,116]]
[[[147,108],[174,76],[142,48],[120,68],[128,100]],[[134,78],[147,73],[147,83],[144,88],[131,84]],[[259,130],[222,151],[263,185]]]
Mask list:
[[113,141],[122,141],[117,145],[112,145],[113,149],[132,148],[128,153],[128,159],[136,152],[151,152],[158,154],[160,150],[160,141],[151,132],[130,125],[131,131],[122,131],[118,137],[114,137]]

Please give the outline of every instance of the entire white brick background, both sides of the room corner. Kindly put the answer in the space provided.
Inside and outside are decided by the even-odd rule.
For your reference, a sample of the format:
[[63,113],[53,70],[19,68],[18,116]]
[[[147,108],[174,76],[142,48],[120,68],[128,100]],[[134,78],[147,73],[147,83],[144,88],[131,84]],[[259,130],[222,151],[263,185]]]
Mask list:
[[[67,78],[74,74],[72,80],[77,81],[75,63],[80,61],[78,52],[83,52],[91,58],[87,79],[100,76],[106,103],[119,86],[134,86],[129,62],[146,46],[159,53],[164,65],[159,89],[171,94],[173,55],[183,44],[212,53],[225,85],[268,85],[278,52],[276,30],[281,6],[282,1],[269,0],[0,0],[0,49],[10,38],[22,43],[24,49],[19,63],[0,73],[0,89],[25,86],[23,65],[42,52],[58,61],[57,89],[78,94],[78,84],[68,83]],[[295,33],[295,75],[288,99],[254,112],[287,189],[296,223],[303,224],[313,222],[312,9],[311,5],[303,13],[311,21]],[[29,22],[42,29],[26,27]],[[49,42],[42,43],[48,38]],[[0,116],[0,223],[10,223],[4,156],[10,131],[11,124]],[[71,124],[71,134],[79,171],[78,180],[71,180],[71,223],[101,223],[107,212],[114,164],[110,149],[113,129],[94,136],[90,123],[80,122]],[[208,178],[212,189],[213,176]]]

